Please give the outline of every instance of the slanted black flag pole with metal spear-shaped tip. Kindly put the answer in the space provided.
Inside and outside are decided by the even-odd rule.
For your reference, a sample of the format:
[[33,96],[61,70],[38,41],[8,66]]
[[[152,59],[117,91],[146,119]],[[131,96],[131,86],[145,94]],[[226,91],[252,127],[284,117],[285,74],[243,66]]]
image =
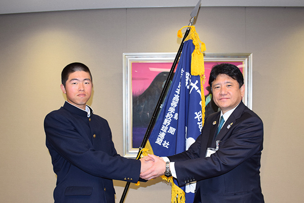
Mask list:
[[[200,4],[201,4],[201,0],[199,0],[198,4],[196,5],[196,7],[194,8],[194,10],[190,14],[191,19],[190,19],[190,22],[189,22],[188,26],[191,26],[193,24],[194,19],[196,18],[197,14],[198,14]],[[183,37],[183,39],[181,41],[181,44],[180,44],[179,49],[178,49],[178,52],[177,52],[177,54],[175,56],[175,59],[173,61],[172,66],[171,66],[170,72],[169,72],[167,80],[166,80],[166,82],[164,84],[164,87],[163,87],[163,90],[162,90],[161,95],[159,97],[159,100],[157,102],[156,108],[154,109],[153,115],[151,117],[151,120],[150,120],[150,122],[148,124],[148,127],[146,129],[146,132],[144,134],[143,140],[142,140],[141,145],[139,147],[136,159],[140,158],[141,150],[145,147],[145,145],[146,145],[146,143],[147,143],[147,141],[148,141],[148,139],[150,137],[151,129],[153,128],[153,126],[155,124],[155,121],[156,121],[156,118],[157,118],[157,115],[160,112],[161,105],[162,105],[163,100],[165,98],[165,94],[166,94],[166,92],[168,90],[169,82],[170,82],[170,80],[172,78],[172,75],[174,73],[175,66],[176,66],[176,64],[177,64],[177,62],[179,60],[179,57],[180,57],[180,54],[181,54],[181,51],[182,51],[182,48],[183,48],[184,41],[185,41],[186,37],[188,36],[190,29],[191,28],[188,27],[187,30],[185,31],[184,37]],[[122,197],[120,199],[120,203],[123,203],[125,201],[125,198],[126,198],[126,195],[128,193],[129,187],[130,187],[130,182],[127,182],[126,186],[125,186],[125,189],[123,191]]]

